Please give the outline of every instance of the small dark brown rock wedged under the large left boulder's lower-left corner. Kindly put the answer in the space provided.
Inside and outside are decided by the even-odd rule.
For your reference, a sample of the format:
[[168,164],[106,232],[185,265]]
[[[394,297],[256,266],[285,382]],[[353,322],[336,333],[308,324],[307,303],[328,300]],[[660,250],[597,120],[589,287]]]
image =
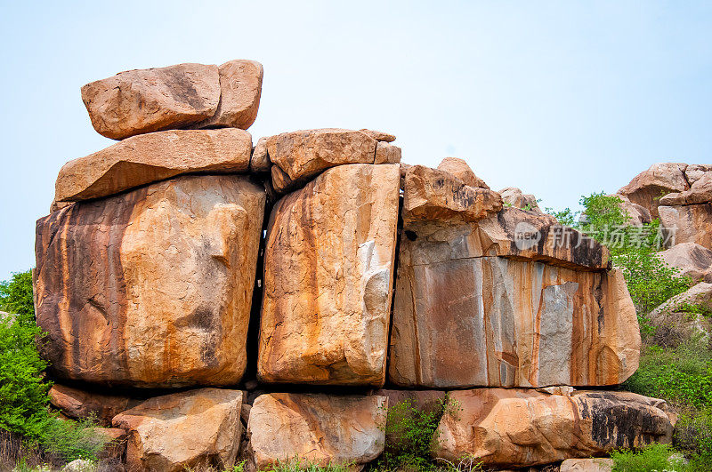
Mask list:
[[111,419],[118,413],[142,402],[129,396],[90,392],[57,383],[50,388],[49,396],[50,403],[70,418],[81,419],[93,416],[103,426],[109,426]]

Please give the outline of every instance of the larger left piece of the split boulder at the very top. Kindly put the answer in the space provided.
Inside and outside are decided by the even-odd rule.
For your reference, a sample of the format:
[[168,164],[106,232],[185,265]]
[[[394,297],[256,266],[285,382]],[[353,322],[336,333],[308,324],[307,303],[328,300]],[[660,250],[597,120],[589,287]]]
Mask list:
[[123,140],[214,116],[220,77],[216,66],[203,64],[129,70],[86,84],[82,100],[97,132]]

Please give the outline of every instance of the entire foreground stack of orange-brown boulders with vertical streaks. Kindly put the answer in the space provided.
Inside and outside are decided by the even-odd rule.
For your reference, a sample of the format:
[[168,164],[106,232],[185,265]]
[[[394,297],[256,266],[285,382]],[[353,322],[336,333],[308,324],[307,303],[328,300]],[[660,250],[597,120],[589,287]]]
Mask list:
[[585,389],[626,380],[641,342],[602,245],[503,206],[461,159],[401,164],[384,132],[253,148],[261,83],[234,60],[83,88],[121,141],[65,164],[37,221],[55,406],[124,434],[132,470],[360,467],[403,398],[458,405],[446,460],[670,441],[664,402]]

